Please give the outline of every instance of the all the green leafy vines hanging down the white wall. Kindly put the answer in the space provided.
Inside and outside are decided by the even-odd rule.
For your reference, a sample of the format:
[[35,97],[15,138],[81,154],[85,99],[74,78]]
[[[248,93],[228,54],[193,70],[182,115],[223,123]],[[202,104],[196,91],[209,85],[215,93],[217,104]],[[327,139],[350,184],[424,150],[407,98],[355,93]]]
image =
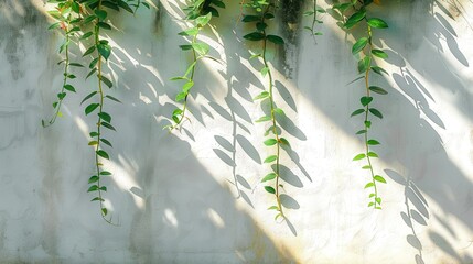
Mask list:
[[[229,1],[229,0],[228,0]],[[282,0],[280,0],[282,1]],[[282,136],[282,129],[278,120],[286,118],[284,111],[278,107],[278,100],[275,96],[275,78],[273,66],[270,63],[269,51],[278,51],[283,48],[284,41],[272,28],[276,20],[278,0],[241,0],[241,22],[251,29],[249,32],[243,33],[243,38],[248,43],[257,43],[258,52],[250,57],[257,61],[255,65],[264,80],[264,91],[257,95],[254,100],[262,102],[265,116],[260,117],[255,122],[266,125],[265,136],[262,142],[265,152],[270,154],[265,158],[264,163],[268,165],[268,173],[261,177],[264,189],[275,197],[273,205],[268,209],[275,210],[275,219],[287,219],[281,202],[281,193],[283,191],[281,178],[281,156],[282,150],[290,147],[289,141]],[[150,9],[150,4],[143,0],[49,0],[52,10],[49,12],[56,20],[50,26],[50,30],[55,30],[64,37],[58,53],[62,59],[58,62],[62,65],[62,82],[53,102],[53,114],[47,121],[42,121],[43,127],[52,125],[57,117],[62,116],[61,108],[66,96],[75,94],[80,87],[78,78],[74,74],[76,68],[87,69],[85,79],[94,78],[92,91],[87,92],[80,102],[84,106],[84,113],[94,125],[89,132],[88,145],[93,148],[94,156],[94,173],[88,175],[88,189],[93,194],[92,201],[99,205],[100,216],[105,221],[111,224],[117,224],[112,221],[110,212],[106,207],[105,193],[107,191],[107,177],[112,176],[111,172],[105,169],[104,161],[110,158],[109,150],[114,147],[112,143],[107,139],[107,135],[116,131],[112,117],[109,108],[114,108],[120,102],[119,99],[111,96],[110,88],[114,87],[112,78],[109,75],[108,61],[112,56],[112,46],[110,45],[110,34],[108,32],[115,29],[114,21],[110,19],[110,12],[126,11],[135,13],[140,7]],[[355,42],[352,45],[352,54],[357,58],[357,69],[359,77],[355,80],[364,80],[364,95],[359,98],[359,108],[353,111],[352,117],[361,117],[362,128],[356,134],[363,138],[364,150],[353,160],[363,162],[362,168],[369,174],[369,180],[365,188],[369,189],[368,207],[381,209],[381,197],[378,193],[378,184],[386,183],[385,178],[376,174],[374,158],[378,154],[374,151],[380,142],[372,136],[372,129],[375,119],[383,119],[381,111],[376,108],[377,96],[386,95],[387,91],[372,84],[370,75],[387,74],[385,69],[376,65],[377,59],[385,59],[388,55],[380,48],[374,45],[374,37],[378,30],[385,30],[388,24],[379,18],[372,16],[368,11],[368,6],[372,0],[357,1],[351,0],[347,2],[337,2],[333,4],[332,11],[340,14],[342,18],[341,25],[347,32],[353,32]],[[379,3],[375,1],[375,3]],[[182,125],[183,121],[189,119],[187,99],[193,89],[198,86],[195,70],[201,59],[209,58],[217,61],[208,55],[211,46],[203,42],[200,34],[209,26],[213,18],[218,18],[219,9],[226,7],[224,0],[189,0],[183,7],[185,12],[185,21],[187,29],[178,34],[183,36],[186,43],[179,47],[190,54],[190,63],[186,65],[183,74],[171,78],[176,82],[182,84],[181,89],[175,94],[175,101],[180,103],[171,114],[171,124],[165,128],[170,131]],[[283,10],[282,10],[283,11]],[[311,23],[304,26],[312,35],[322,35],[316,29],[318,24],[322,23],[320,14],[326,11],[318,6],[316,0],[312,0],[312,7],[304,12],[305,16],[312,16]],[[356,32],[363,32],[358,36]],[[228,30],[228,29],[221,29]],[[79,45],[80,44],[80,45]],[[72,48],[75,46],[75,48]],[[79,46],[85,50],[80,56],[72,53],[72,50],[77,51]],[[77,73],[76,73],[77,74]],[[75,79],[75,80],[74,80]],[[74,81],[72,81],[74,80]],[[76,84],[76,85],[73,85]],[[85,86],[85,84],[83,84]],[[375,97],[376,96],[376,97]],[[376,99],[376,100],[375,100]]]

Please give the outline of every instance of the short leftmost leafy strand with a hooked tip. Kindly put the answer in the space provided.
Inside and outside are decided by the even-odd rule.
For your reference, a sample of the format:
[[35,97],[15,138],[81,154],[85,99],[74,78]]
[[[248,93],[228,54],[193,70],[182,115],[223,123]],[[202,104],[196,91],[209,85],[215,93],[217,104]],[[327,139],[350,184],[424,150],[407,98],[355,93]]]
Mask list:
[[[49,2],[56,1],[50,0]],[[64,53],[65,58],[58,63],[64,63],[63,86],[61,88],[61,92],[57,94],[57,100],[53,102],[53,117],[47,122],[44,120],[41,121],[44,128],[52,125],[56,121],[56,118],[62,116],[61,107],[67,95],[67,91],[76,92],[75,87],[68,81],[76,78],[76,76],[69,72],[69,68],[72,66],[84,67],[82,64],[72,63],[69,59],[69,44],[72,38],[76,36],[76,33],[80,31],[78,24],[82,20],[78,16],[80,13],[78,3],[73,0],[63,1],[57,3],[55,10],[49,11],[47,13],[57,21],[53,23],[49,30],[60,29],[62,32],[64,32],[64,43],[61,45],[58,53]]]

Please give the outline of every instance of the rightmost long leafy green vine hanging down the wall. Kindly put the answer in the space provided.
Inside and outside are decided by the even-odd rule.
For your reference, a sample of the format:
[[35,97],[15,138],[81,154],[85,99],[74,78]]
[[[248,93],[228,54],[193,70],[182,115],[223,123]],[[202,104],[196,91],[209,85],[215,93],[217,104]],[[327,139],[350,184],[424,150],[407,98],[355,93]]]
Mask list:
[[344,21],[343,26],[346,30],[351,30],[352,28],[355,28],[356,25],[364,25],[366,26],[365,35],[357,38],[355,43],[352,46],[352,54],[355,56],[359,56],[358,61],[358,72],[362,74],[361,77],[357,79],[364,79],[365,80],[365,95],[359,98],[359,102],[362,107],[359,109],[356,109],[352,117],[361,114],[363,117],[363,129],[357,131],[356,134],[362,135],[364,140],[365,150],[363,153],[357,154],[353,161],[362,161],[364,160],[366,164],[362,167],[363,169],[366,169],[369,172],[370,180],[365,185],[366,189],[370,189],[369,191],[369,199],[373,199],[369,201],[368,207],[373,207],[375,209],[381,209],[381,197],[378,194],[378,187],[377,184],[386,184],[386,179],[375,174],[375,169],[373,166],[373,158],[377,158],[378,154],[372,150],[372,147],[379,145],[379,141],[373,139],[369,136],[369,131],[372,129],[372,117],[376,117],[379,119],[383,119],[383,113],[373,107],[374,105],[374,94],[377,95],[387,95],[388,92],[383,89],[379,86],[373,86],[370,85],[370,73],[376,73],[381,75],[383,73],[386,73],[385,69],[383,69],[379,66],[375,65],[374,57],[378,58],[387,58],[388,55],[374,46],[373,44],[373,32],[374,30],[378,29],[387,29],[388,24],[379,19],[379,18],[368,18],[367,16],[367,10],[366,8],[373,3],[372,0],[365,0],[365,1],[356,1],[352,0],[347,3],[340,3],[334,7],[334,10],[340,12],[341,14],[346,13],[347,11],[351,11],[351,15],[347,16],[347,19]]

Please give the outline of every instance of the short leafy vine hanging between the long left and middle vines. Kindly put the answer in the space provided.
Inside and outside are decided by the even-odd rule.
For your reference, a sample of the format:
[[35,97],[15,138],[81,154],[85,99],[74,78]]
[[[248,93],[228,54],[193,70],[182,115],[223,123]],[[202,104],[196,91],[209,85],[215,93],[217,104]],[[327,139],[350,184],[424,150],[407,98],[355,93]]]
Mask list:
[[184,80],[185,82],[181,88],[181,92],[175,96],[175,101],[183,101],[182,107],[174,109],[171,117],[172,124],[164,127],[169,131],[176,129],[186,118],[187,97],[191,88],[194,87],[194,74],[197,62],[204,57],[212,58],[207,55],[211,48],[209,45],[197,40],[198,34],[208,24],[212,16],[219,15],[218,11],[212,4],[225,8],[225,3],[221,0],[195,0],[184,8],[187,12],[186,19],[191,21],[193,26],[179,33],[179,35],[191,38],[190,44],[180,45],[180,48],[192,52],[192,63],[187,66],[184,75],[171,78],[171,80]]

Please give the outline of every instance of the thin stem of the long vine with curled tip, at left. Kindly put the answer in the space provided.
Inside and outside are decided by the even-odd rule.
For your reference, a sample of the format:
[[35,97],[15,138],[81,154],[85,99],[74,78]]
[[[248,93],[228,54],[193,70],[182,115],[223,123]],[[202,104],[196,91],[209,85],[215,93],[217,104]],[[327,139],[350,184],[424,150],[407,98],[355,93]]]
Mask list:
[[[100,10],[101,8],[101,0],[98,1],[98,6],[97,6],[97,10]],[[98,26],[98,22],[99,22],[99,18],[97,18],[97,24],[95,25],[95,45],[98,46],[99,45],[99,34],[100,34],[100,28]],[[98,95],[99,95],[99,112],[101,113],[103,109],[104,109],[104,89],[101,87],[101,54],[100,52],[97,51],[98,54],[98,62],[97,62],[97,80],[98,80]],[[104,199],[101,198],[101,185],[100,185],[100,160],[98,156],[98,151],[100,150],[100,139],[101,139],[101,117],[98,116],[98,121],[97,121],[97,145],[95,147],[95,164],[96,164],[96,170],[97,170],[97,193],[98,193],[98,198],[99,198],[99,206],[100,206],[100,215],[101,218],[110,224],[117,226],[116,223],[111,222],[111,218],[107,219],[107,208],[104,206]]]

